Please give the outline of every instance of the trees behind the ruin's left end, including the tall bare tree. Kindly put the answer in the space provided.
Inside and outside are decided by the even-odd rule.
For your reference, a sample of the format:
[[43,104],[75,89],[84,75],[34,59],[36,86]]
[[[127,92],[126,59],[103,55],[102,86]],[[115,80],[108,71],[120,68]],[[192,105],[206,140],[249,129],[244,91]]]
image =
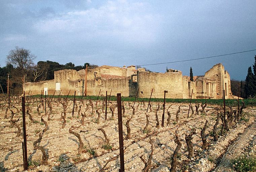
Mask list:
[[7,76],[9,74],[9,88],[15,92],[22,91],[25,82],[38,82],[54,79],[54,71],[63,69],[82,70],[87,66],[90,68],[98,67],[84,63],[83,66],[75,66],[72,62],[60,64],[55,61],[38,61],[34,63],[36,58],[30,50],[15,47],[6,56],[6,66],[0,67],[0,86],[1,92],[7,92]]

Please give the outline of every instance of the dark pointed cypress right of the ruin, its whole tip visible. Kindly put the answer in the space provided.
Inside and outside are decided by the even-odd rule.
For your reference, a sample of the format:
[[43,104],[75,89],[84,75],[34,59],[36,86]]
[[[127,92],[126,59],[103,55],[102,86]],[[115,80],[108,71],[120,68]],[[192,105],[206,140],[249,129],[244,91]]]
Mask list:
[[256,81],[255,75],[252,73],[252,67],[248,68],[248,73],[245,79],[244,97],[250,98],[256,96]]

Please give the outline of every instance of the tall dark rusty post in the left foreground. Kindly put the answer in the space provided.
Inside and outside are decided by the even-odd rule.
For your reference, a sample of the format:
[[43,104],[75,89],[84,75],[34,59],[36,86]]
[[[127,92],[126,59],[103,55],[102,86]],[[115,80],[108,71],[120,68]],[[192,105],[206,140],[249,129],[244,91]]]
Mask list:
[[23,119],[23,140],[24,140],[24,170],[28,169],[27,155],[27,135],[26,135],[26,119],[25,119],[25,94],[22,97],[22,119]]

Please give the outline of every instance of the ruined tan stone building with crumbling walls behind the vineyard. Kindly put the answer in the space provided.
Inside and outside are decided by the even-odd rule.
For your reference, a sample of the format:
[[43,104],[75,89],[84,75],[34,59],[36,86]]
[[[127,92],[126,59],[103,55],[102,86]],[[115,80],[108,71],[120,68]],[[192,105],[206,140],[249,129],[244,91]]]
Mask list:
[[82,95],[87,85],[87,95],[105,95],[112,89],[111,95],[121,93],[122,96],[163,98],[166,90],[166,98],[232,98],[230,89],[230,76],[219,63],[214,65],[204,76],[194,76],[190,81],[188,76],[183,76],[181,71],[169,69],[166,73],[146,72],[143,68],[136,70],[135,66],[111,67],[101,66],[87,69],[87,84],[85,84],[85,70],[60,70],[54,72],[54,79],[36,83],[25,83],[24,91],[32,91],[32,95]]

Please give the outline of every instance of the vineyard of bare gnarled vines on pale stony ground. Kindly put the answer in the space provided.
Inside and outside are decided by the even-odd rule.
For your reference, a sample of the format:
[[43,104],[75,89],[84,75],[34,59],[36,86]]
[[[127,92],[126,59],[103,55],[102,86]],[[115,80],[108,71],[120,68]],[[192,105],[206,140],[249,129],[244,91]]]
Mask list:
[[[21,97],[10,100],[9,105],[7,97],[0,99],[1,172],[24,171]],[[29,171],[119,171],[115,97],[28,96],[25,101]],[[255,109],[246,101],[237,107],[236,101],[225,106],[224,115],[223,105],[208,101],[193,100],[191,106],[167,101],[163,106],[162,99],[123,98],[125,171],[215,169],[232,141],[255,122]]]

